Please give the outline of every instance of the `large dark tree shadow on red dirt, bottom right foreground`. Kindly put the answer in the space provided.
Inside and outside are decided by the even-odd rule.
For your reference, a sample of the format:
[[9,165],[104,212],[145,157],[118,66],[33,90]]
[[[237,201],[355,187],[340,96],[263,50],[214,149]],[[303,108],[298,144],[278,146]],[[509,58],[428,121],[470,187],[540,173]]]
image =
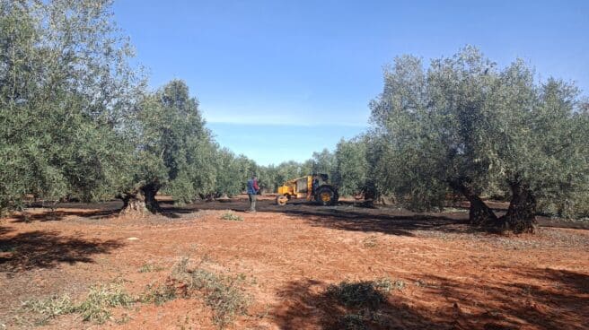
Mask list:
[[[505,270],[515,282],[460,282],[414,275],[403,292],[351,329],[586,329],[589,275],[554,269]],[[541,284],[531,284],[531,282]],[[346,329],[350,310],[333,300],[327,284],[289,282],[271,311],[281,329]],[[410,294],[408,293],[410,292]],[[357,311],[355,312],[358,315]],[[363,315],[360,313],[360,315]],[[368,315],[364,313],[364,315]]]

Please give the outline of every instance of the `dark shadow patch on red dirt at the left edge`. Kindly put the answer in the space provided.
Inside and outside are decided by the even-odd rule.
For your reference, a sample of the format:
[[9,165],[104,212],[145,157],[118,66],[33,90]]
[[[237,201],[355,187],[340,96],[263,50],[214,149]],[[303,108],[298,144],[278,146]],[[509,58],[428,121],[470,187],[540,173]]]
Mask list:
[[99,240],[61,236],[57,231],[29,231],[0,238],[0,273],[53,268],[60,263],[92,263],[92,255],[123,247],[117,239]]

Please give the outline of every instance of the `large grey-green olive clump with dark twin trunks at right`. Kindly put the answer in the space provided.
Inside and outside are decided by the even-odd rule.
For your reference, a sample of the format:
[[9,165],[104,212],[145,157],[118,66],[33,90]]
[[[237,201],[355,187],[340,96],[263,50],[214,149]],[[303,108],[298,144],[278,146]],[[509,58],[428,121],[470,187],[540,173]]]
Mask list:
[[[384,71],[371,102],[378,187],[416,210],[461,194],[470,221],[532,231],[537,202],[567,200],[587,187],[586,115],[571,83],[534,80],[517,60],[504,69],[467,47],[427,69],[414,56]],[[500,187],[510,196],[497,218],[480,197]]]

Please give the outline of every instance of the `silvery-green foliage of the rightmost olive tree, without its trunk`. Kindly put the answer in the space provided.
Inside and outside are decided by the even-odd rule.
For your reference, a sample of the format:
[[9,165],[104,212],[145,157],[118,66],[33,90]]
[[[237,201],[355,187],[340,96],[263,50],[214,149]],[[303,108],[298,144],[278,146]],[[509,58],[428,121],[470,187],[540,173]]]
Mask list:
[[[509,72],[508,79],[517,83],[514,74]],[[509,144],[497,148],[499,166],[512,195],[506,220],[514,222],[511,217],[525,213],[526,204],[541,207],[543,212],[552,209],[558,216],[586,216],[589,113],[581,107],[573,83],[550,78],[535,90],[527,116],[515,123],[504,120],[499,126],[500,130],[512,127],[523,132],[514,133]],[[506,92],[502,96],[502,102],[516,99]],[[514,147],[508,149],[508,145]]]

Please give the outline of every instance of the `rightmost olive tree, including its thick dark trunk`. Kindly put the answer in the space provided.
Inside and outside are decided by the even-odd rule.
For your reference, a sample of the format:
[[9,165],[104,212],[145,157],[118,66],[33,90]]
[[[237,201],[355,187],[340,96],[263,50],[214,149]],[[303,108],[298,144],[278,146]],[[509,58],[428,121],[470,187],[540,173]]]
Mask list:
[[[579,91],[573,83],[550,78],[534,85],[522,63],[515,63],[502,75],[497,98],[495,135],[497,172],[502,174],[511,203],[501,219],[508,228],[527,231],[537,204],[559,205],[563,215],[589,188],[589,121],[578,108]],[[527,86],[522,86],[524,83]],[[522,107],[521,96],[532,90],[532,100],[519,117],[508,109]]]

